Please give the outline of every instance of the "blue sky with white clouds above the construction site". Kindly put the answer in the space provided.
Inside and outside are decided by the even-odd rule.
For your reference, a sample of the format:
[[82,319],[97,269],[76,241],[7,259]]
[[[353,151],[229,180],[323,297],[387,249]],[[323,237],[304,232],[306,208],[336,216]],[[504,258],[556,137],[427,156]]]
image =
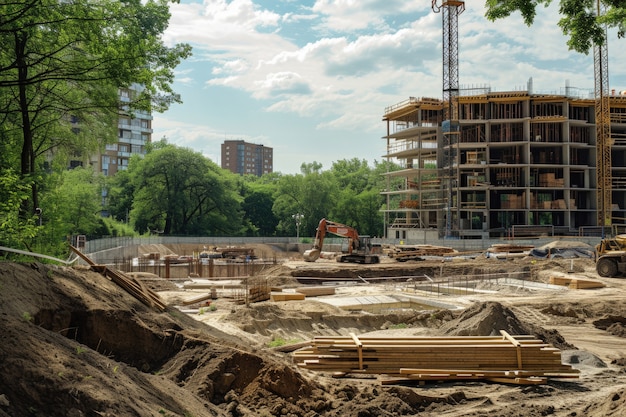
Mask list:
[[[568,50],[558,3],[488,21],[467,0],[459,22],[459,85],[491,91],[579,92],[593,97],[593,53]],[[437,1],[441,4],[441,0]],[[166,45],[188,43],[176,69],[182,104],[153,114],[153,140],[221,165],[224,140],[273,148],[274,172],[303,163],[384,161],[385,108],[409,97],[442,98],[442,16],[431,0],[181,0],[171,4]],[[626,90],[626,46],[609,33],[610,88]],[[461,91],[461,94],[462,91]],[[591,96],[590,96],[591,95]]]

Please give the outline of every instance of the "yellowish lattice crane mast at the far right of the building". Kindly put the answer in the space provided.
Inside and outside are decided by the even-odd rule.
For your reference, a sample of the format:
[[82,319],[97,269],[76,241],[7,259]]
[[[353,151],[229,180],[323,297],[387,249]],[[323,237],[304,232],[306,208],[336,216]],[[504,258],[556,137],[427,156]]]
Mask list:
[[[597,15],[604,13],[604,5],[597,0]],[[598,226],[611,225],[612,180],[611,180],[611,113],[609,103],[609,53],[607,47],[606,27],[604,43],[593,46],[593,69],[595,76],[595,117],[596,117],[596,198]]]

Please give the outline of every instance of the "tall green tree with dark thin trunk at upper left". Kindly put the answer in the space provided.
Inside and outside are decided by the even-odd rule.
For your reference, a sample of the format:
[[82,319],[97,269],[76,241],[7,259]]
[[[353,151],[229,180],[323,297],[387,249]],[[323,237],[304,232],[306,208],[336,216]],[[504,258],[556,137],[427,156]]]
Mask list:
[[178,101],[173,69],[190,47],[163,44],[166,0],[26,0],[4,3],[0,16],[0,116],[32,184],[25,216],[38,206],[41,156],[113,140],[120,87],[144,86],[129,112]]

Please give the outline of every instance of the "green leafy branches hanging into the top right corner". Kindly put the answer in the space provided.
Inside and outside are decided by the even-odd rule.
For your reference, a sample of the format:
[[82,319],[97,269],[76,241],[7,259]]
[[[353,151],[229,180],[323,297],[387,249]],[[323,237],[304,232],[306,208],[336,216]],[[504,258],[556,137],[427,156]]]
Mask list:
[[[618,36],[626,33],[626,4],[623,0],[600,0],[606,7],[602,16],[597,16],[598,0],[560,0],[558,25],[569,37],[569,49],[589,53],[594,44],[606,42],[604,26],[617,28]],[[524,22],[532,25],[537,15],[537,6],[547,7],[552,0],[486,0],[486,17],[495,21],[520,12]]]

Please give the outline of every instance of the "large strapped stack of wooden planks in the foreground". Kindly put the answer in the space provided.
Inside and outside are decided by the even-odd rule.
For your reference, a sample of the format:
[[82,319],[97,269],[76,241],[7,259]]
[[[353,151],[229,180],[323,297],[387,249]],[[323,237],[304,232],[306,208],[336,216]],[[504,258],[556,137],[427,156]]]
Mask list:
[[332,372],[386,374],[393,382],[489,379],[544,383],[548,377],[576,378],[561,352],[531,335],[450,337],[320,336],[294,352],[298,366]]

